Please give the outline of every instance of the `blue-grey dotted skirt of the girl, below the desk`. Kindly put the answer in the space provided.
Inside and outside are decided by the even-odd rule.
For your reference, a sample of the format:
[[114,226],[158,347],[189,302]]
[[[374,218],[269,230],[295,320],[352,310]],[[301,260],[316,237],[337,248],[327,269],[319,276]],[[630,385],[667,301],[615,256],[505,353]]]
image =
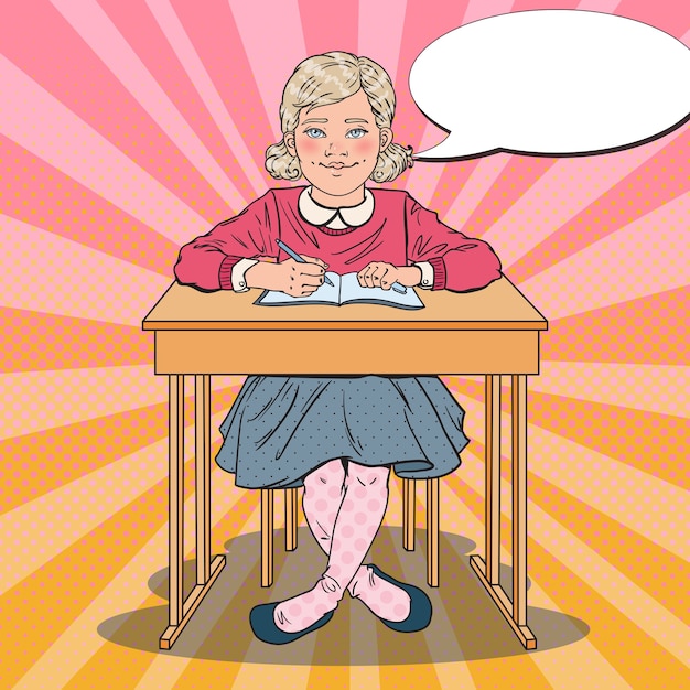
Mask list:
[[464,410],[435,376],[250,376],[216,456],[244,488],[301,486],[336,457],[424,479],[460,466]]

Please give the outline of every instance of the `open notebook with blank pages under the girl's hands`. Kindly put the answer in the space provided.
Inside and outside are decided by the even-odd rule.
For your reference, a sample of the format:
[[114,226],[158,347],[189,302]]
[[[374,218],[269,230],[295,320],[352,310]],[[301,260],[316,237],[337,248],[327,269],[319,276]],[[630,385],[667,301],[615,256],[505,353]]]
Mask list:
[[386,306],[397,306],[398,309],[422,309],[424,306],[412,288],[408,288],[405,294],[400,294],[393,290],[381,290],[381,288],[363,288],[357,281],[357,273],[338,276],[327,271],[326,276],[333,282],[333,287],[324,282],[309,297],[293,298],[284,292],[265,290],[255,304],[261,304],[262,306],[384,304]]

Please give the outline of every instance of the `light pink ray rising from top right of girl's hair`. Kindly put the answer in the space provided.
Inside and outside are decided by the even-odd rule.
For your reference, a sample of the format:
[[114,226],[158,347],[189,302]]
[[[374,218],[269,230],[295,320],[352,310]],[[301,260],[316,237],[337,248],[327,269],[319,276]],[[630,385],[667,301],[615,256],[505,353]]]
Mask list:
[[[359,0],[359,29],[357,54],[376,61],[396,83],[406,2]],[[381,32],[381,26],[386,31]]]

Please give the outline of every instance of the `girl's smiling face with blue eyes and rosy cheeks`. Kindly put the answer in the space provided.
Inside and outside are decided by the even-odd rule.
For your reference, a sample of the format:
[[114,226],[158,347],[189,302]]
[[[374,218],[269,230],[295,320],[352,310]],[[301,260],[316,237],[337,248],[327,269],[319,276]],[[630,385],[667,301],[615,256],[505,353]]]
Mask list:
[[[300,159],[302,173],[333,205],[357,201],[374,172],[378,154],[392,140],[392,131],[379,129],[363,89],[330,106],[300,112],[294,132],[284,136],[292,155]],[[343,200],[342,197],[351,197]],[[319,200],[316,200],[319,201]]]

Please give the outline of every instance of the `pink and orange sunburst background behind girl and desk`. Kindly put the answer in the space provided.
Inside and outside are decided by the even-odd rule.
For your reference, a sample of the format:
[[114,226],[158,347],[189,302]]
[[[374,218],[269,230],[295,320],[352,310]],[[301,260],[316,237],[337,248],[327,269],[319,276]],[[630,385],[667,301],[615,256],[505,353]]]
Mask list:
[[[466,552],[483,552],[483,387],[457,376],[445,380],[473,443],[442,483],[441,587],[424,634],[389,636],[353,604],[281,656],[255,640],[248,607],[289,589],[309,537],[277,556],[273,590],[258,587],[258,493],[214,470],[214,552],[234,561],[209,617],[157,649],[166,381],[141,320],[180,246],[274,186],[263,152],[305,56],[346,50],[385,65],[396,139],[421,150],[443,138],[407,86],[421,50],[470,21],[550,8],[628,17],[690,44],[690,4],[675,0],[3,6],[0,687],[690,687],[689,125],[591,158],[418,163],[392,185],[488,240],[550,322],[529,395],[539,650],[500,622],[488,639],[493,604],[459,575]],[[214,379],[215,448],[240,382]],[[376,553],[423,582],[423,551],[391,538],[397,484],[385,525]]]

